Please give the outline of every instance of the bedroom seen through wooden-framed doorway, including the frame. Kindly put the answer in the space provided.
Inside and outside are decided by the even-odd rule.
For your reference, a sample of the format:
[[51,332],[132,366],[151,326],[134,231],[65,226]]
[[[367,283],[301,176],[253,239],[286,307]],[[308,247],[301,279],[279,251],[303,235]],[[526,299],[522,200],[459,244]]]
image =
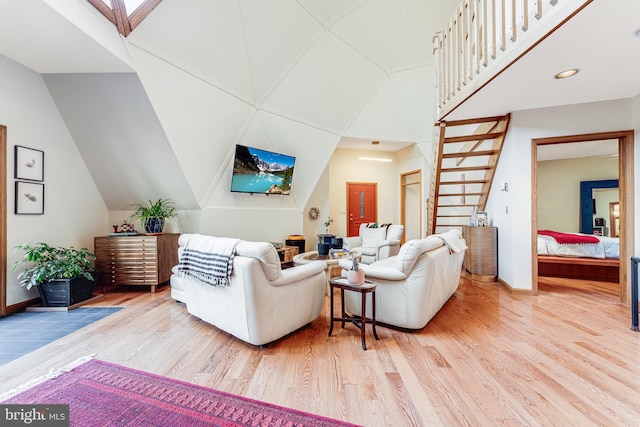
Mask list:
[[[633,247],[633,131],[534,139],[532,154],[534,293],[543,283],[542,276],[582,278],[616,282],[620,298],[625,301],[630,289],[627,254]],[[607,208],[604,201],[598,203],[599,212],[598,195],[589,195],[587,209],[578,191],[580,182],[607,180],[619,182],[619,200],[610,201],[619,206],[619,238],[608,235],[608,202]],[[580,221],[583,211],[589,215],[586,230]],[[538,230],[568,233],[572,239],[585,241],[558,244],[548,235],[539,236]],[[574,252],[578,249],[588,249],[590,253]]]

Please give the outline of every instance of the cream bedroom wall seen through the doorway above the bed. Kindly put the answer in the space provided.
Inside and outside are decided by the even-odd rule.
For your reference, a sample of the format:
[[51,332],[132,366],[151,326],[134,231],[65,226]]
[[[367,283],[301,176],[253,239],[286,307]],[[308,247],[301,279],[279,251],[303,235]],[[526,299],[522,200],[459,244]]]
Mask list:
[[[580,150],[576,143],[576,151]],[[538,229],[580,231],[580,181],[618,179],[617,157],[591,157],[538,162]],[[615,190],[617,199],[617,190]],[[594,197],[595,198],[595,197]],[[596,217],[609,223],[609,204],[597,206]]]

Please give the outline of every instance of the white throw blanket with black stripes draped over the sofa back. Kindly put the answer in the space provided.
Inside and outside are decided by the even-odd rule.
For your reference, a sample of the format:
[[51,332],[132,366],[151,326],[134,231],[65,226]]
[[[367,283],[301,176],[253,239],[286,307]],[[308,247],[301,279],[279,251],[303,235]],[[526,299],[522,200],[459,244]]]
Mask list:
[[178,273],[211,286],[227,285],[239,239],[194,234],[185,245]]

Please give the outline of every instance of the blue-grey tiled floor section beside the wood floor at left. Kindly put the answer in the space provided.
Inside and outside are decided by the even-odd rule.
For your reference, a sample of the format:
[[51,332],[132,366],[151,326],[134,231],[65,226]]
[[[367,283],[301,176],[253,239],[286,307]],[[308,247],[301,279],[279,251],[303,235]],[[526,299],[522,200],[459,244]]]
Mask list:
[[122,307],[87,307],[69,311],[22,312],[0,317],[0,365],[32,352]]

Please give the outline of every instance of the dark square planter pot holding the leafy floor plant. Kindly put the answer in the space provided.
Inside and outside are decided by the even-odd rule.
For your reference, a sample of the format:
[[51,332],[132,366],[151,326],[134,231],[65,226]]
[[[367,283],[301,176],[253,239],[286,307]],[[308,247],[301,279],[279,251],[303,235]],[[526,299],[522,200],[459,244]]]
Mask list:
[[80,276],[39,284],[36,287],[40,293],[42,305],[44,307],[69,307],[88,300],[93,296],[98,273],[94,273],[93,277],[93,280]]

